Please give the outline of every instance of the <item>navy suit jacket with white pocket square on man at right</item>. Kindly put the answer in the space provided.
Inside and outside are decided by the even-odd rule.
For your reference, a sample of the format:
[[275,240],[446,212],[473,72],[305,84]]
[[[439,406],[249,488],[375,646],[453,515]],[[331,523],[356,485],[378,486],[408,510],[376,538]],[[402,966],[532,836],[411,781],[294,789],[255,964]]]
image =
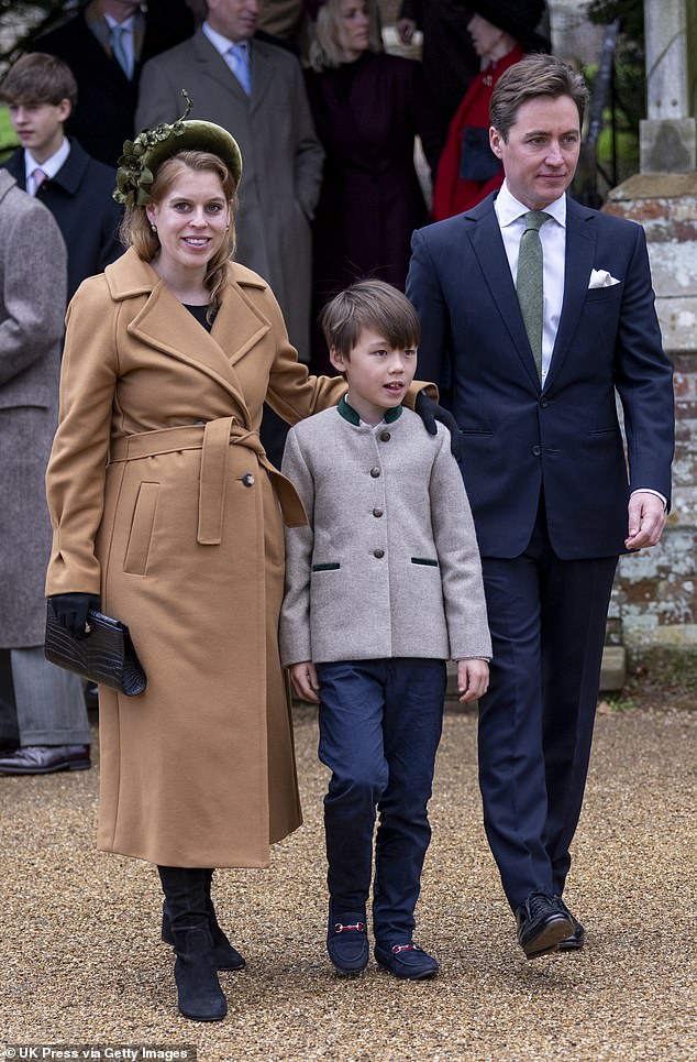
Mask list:
[[[643,229],[567,199],[564,300],[541,391],[495,198],[413,234],[407,295],[422,326],[419,376],[452,381],[483,556],[525,549],[541,491],[558,557],[617,556],[630,492],[671,493],[672,366]],[[620,283],[589,289],[593,269]]]

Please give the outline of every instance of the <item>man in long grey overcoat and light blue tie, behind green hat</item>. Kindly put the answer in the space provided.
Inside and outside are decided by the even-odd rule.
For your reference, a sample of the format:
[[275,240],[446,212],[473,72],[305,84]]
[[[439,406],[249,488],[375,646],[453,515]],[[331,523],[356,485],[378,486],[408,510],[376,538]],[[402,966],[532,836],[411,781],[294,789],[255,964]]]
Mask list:
[[283,48],[251,40],[257,14],[256,0],[208,0],[201,29],[145,64],[135,123],[137,131],[175,121],[184,88],[192,119],[217,122],[235,138],[243,158],[235,259],[270,284],[290,342],[307,361],[310,221],[324,153],[300,64]]

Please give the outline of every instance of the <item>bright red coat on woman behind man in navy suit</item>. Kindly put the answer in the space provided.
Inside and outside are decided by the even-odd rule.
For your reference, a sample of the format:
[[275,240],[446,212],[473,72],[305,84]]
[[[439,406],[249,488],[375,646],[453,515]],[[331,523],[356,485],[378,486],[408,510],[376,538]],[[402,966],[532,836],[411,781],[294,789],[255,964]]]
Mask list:
[[[522,59],[524,52],[516,45],[512,52],[482,70],[469,85],[447,130],[447,140],[438,167],[433,188],[433,220],[444,221],[485,199],[504,184],[504,167],[486,180],[460,176],[462,141],[466,128],[488,129],[491,92],[504,70]],[[491,156],[494,158],[494,156]]]

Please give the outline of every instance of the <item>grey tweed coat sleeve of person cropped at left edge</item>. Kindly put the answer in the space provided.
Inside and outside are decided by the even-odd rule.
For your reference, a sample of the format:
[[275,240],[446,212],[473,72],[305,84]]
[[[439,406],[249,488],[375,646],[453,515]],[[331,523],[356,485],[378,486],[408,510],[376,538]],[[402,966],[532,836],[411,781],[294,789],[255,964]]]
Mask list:
[[53,215],[30,196],[7,205],[0,261],[0,386],[56,348],[63,335],[67,255]]

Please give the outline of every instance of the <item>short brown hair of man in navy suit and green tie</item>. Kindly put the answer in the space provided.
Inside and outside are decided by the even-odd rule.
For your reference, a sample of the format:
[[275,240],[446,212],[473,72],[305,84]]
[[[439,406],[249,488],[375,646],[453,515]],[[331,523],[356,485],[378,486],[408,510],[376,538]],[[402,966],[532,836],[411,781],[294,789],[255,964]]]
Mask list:
[[588,101],[588,89],[583,76],[553,55],[527,55],[504,70],[491,92],[489,119],[508,142],[511,127],[523,103],[546,96],[558,99],[568,96],[578,110],[578,125],[583,125]]

